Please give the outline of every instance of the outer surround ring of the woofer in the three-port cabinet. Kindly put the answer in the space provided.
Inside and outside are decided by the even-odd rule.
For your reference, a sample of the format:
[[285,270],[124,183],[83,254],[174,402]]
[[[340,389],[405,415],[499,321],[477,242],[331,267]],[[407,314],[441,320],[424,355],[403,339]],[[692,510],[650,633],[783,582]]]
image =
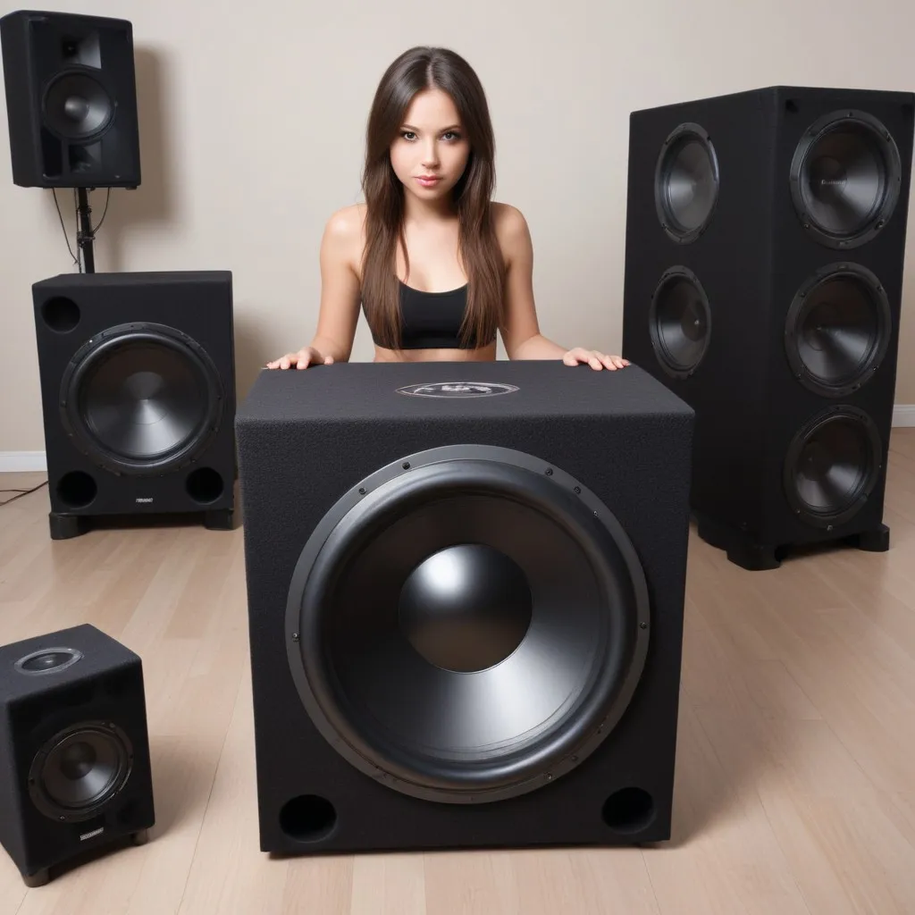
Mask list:
[[[123,339],[146,339],[165,346],[195,362],[206,382],[207,409],[200,431],[191,436],[184,447],[159,460],[127,460],[115,457],[111,451],[93,444],[94,436],[82,422],[78,392],[81,382],[95,360],[108,349],[116,348]],[[224,413],[225,396],[216,365],[210,354],[197,340],[177,328],[153,321],[134,321],[106,328],[94,334],[73,355],[60,379],[59,416],[70,442],[99,467],[114,474],[136,476],[165,475],[193,463],[210,446],[219,432]]]

